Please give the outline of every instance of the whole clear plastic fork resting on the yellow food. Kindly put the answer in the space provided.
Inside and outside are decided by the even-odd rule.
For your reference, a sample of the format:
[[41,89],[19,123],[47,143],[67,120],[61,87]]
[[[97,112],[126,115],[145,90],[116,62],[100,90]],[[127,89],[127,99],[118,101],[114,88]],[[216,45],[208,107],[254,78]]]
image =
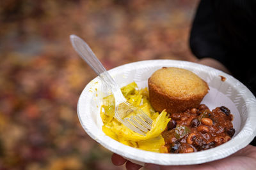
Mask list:
[[[76,35],[70,35],[70,41],[80,57],[84,59],[90,67],[92,67],[93,71],[95,71],[95,73],[97,73],[111,89],[113,96],[115,97],[116,119],[132,131],[145,136],[145,134],[150,131],[153,120],[140,108],[134,107],[132,104],[127,102],[116,81],[110,76],[104,66],[102,66],[90,46],[88,46],[83,39]],[[127,117],[132,112],[135,114],[131,117]]]

